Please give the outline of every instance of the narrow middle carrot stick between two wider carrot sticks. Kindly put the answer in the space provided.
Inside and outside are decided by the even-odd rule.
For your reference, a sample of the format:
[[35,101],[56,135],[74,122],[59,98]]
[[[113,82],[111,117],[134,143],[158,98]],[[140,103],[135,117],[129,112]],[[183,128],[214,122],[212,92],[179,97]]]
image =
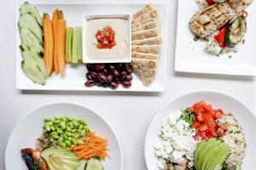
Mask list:
[[[56,39],[56,30],[57,30],[57,20],[61,19],[61,14],[59,9],[55,9],[55,12],[53,13],[52,16],[52,26],[53,26],[53,31],[54,31],[54,37]],[[55,73],[59,73],[59,67],[58,67],[58,62],[57,62],[57,53],[56,53],[56,47],[57,47],[57,41],[55,41],[55,49],[54,49],[54,70]]]

